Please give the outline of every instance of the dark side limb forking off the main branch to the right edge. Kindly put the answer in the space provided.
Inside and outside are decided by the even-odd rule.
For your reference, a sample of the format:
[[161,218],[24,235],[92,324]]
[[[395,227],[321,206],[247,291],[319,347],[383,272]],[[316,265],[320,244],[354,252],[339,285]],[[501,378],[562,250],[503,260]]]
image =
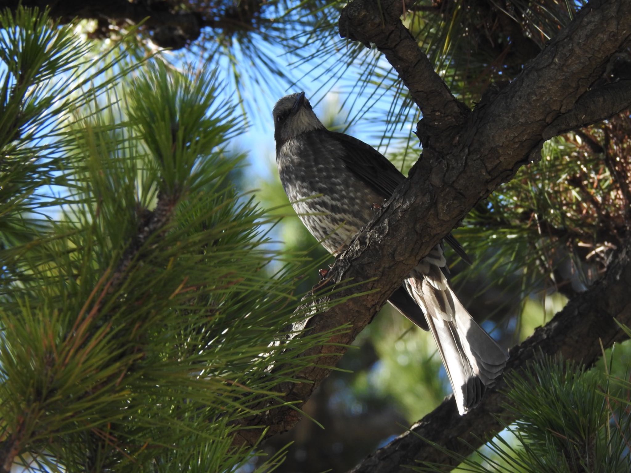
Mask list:
[[583,128],[631,107],[631,81],[618,81],[588,90],[567,114],[560,115],[543,131],[544,138]]

